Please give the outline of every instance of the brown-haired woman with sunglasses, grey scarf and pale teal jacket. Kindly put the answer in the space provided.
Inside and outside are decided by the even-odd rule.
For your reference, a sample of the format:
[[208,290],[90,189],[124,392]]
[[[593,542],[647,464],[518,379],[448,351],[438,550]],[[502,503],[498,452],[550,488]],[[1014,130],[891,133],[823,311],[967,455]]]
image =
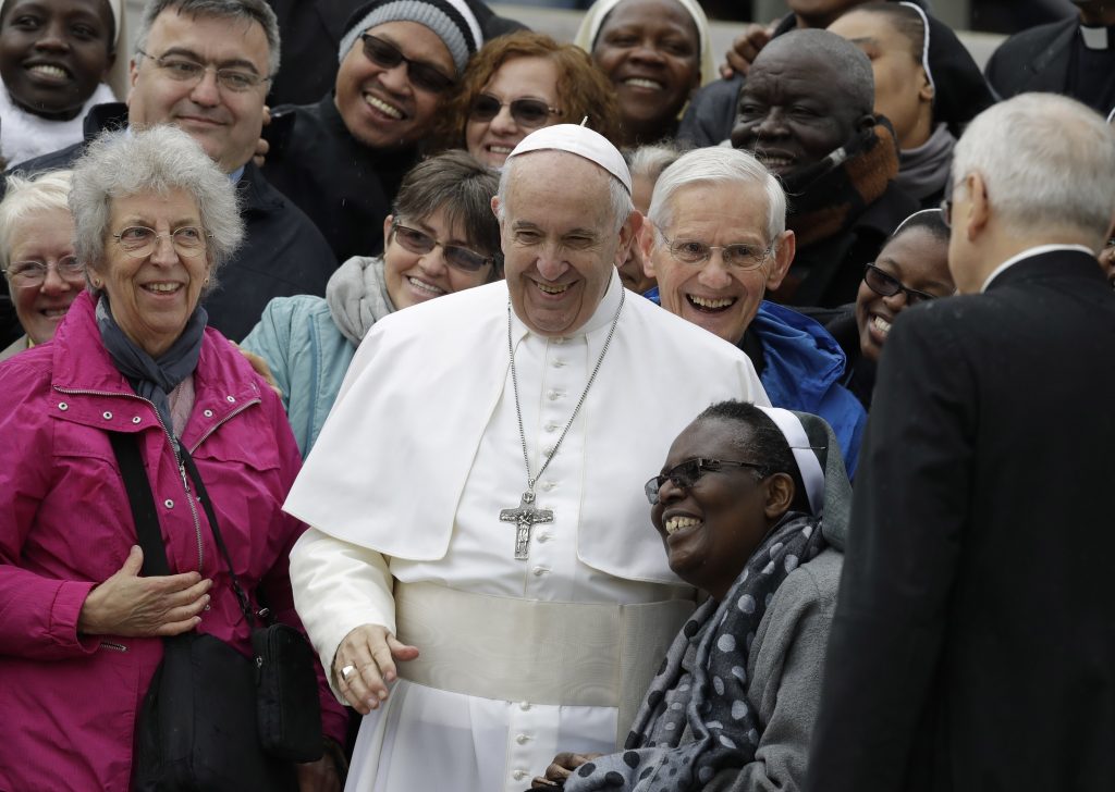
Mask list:
[[304,458],[371,325],[389,313],[503,276],[492,212],[496,175],[465,151],[446,151],[403,179],[384,221],[381,256],[355,256],[326,296],[272,300],[241,346],[260,355],[282,391]]

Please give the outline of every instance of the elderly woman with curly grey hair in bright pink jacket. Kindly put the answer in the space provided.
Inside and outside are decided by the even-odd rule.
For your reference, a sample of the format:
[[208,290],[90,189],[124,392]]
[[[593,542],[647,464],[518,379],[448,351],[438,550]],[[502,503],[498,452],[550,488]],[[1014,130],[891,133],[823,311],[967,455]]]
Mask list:
[[[0,364],[0,789],[123,792],[162,638],[196,630],[251,653],[185,456],[250,607],[294,625],[287,557],[304,526],[281,506],[300,457],[279,398],[205,326],[201,299],[242,227],[201,147],[171,127],[103,137],[70,208],[88,289],[52,342]],[[140,574],[114,432],[137,439],[169,575]],[[328,754],[290,773],[303,792],[340,789]]]

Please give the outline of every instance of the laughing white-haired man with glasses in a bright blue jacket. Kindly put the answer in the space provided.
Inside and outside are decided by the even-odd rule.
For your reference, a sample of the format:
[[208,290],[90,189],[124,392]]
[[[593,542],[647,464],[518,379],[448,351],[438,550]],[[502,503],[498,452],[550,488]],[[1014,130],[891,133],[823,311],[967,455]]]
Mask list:
[[750,154],[683,155],[651,197],[642,246],[658,286],[647,296],[746,352],[772,404],[828,421],[852,475],[866,413],[840,384],[844,352],[812,319],[763,300],[794,261],[785,217],[782,187]]

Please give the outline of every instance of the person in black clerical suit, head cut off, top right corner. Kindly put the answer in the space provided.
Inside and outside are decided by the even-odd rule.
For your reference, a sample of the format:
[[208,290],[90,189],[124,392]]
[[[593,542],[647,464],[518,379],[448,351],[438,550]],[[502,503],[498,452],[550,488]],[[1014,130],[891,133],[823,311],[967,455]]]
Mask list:
[[1073,4],[1078,16],[1024,30],[995,51],[985,74],[999,96],[1046,91],[1104,116],[1115,109],[1115,2]]

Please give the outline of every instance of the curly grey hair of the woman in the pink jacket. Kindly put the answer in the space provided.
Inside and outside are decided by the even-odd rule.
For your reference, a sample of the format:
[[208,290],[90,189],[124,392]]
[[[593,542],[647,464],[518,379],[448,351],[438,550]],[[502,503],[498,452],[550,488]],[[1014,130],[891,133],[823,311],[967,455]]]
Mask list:
[[100,271],[113,202],[145,193],[190,193],[197,203],[207,237],[209,283],[244,236],[236,190],[202,147],[181,129],[166,125],[105,133],[74,166],[69,195],[74,215],[74,253],[89,270]]

